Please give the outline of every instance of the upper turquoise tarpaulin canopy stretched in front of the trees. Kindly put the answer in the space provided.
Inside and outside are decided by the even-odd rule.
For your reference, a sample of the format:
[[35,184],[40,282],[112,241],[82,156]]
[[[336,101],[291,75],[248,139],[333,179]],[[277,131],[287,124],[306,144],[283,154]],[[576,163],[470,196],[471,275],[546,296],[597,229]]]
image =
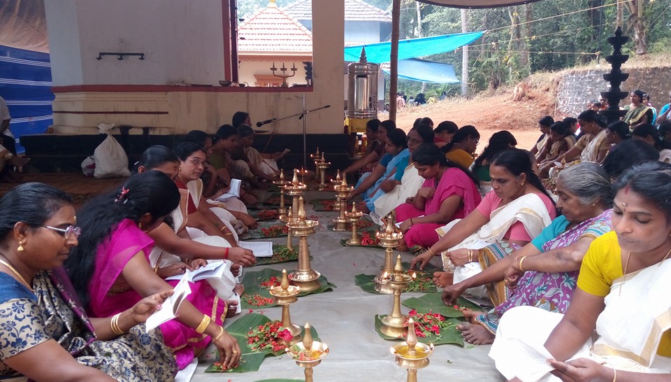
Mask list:
[[[463,45],[468,45],[484,34],[484,31],[445,34],[424,38],[411,38],[398,41],[398,60],[436,55],[442,52],[451,52]],[[391,42],[371,43],[366,45],[348,46],[345,48],[345,61],[356,62],[361,57],[361,48],[366,47],[368,62],[381,64],[389,62],[391,57]]]

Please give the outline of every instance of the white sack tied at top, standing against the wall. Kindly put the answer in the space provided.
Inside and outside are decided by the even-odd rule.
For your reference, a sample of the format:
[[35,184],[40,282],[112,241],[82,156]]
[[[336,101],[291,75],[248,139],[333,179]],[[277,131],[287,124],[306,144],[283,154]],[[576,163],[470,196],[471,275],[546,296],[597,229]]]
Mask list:
[[110,133],[110,130],[113,128],[114,124],[106,125],[101,123],[98,125],[98,132],[100,134],[107,134],[107,138],[96,147],[93,153],[96,163],[93,176],[98,179],[131,176],[131,171],[128,169],[128,156],[124,148],[121,147],[119,142]]

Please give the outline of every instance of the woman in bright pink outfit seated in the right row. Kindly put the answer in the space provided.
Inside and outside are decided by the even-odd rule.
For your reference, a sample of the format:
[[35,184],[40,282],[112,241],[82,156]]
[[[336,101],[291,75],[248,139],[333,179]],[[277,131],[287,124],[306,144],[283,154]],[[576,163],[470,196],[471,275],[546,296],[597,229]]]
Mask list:
[[426,179],[412,203],[396,207],[401,222],[401,250],[413,246],[428,248],[438,239],[436,229],[453,219],[463,219],[480,203],[477,179],[459,164],[440,155],[440,148],[425,143],[413,155],[419,175]]

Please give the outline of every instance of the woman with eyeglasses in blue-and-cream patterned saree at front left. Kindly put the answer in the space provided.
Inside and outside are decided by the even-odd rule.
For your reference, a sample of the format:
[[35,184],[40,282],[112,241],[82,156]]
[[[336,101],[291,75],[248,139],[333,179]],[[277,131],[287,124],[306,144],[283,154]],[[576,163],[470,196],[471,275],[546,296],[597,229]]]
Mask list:
[[65,192],[26,183],[0,199],[0,379],[173,381],[160,330],[143,323],[172,294],[165,286],[117,315],[89,318],[62,264],[79,227]]

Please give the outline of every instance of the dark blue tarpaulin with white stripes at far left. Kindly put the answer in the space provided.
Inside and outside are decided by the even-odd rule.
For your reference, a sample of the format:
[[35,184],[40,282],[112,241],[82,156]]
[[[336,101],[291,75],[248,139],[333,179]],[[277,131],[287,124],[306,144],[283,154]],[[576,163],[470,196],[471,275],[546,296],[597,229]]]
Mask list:
[[18,153],[24,152],[20,136],[41,134],[53,124],[51,85],[48,53],[0,45],[0,97],[12,116],[9,128]]

